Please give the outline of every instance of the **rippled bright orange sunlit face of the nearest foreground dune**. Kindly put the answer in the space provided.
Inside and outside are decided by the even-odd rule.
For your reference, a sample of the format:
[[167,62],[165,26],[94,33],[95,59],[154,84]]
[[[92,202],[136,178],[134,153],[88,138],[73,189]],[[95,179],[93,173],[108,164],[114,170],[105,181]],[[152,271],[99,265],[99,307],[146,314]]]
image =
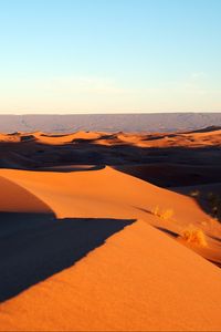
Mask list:
[[220,270],[138,221],[1,304],[0,330],[219,331]]

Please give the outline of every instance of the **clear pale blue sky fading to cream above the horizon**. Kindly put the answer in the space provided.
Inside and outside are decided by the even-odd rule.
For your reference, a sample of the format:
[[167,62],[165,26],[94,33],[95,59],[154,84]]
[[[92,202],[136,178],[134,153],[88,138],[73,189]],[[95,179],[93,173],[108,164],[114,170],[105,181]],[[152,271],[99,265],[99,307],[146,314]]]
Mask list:
[[0,114],[221,112],[221,0],[0,0]]

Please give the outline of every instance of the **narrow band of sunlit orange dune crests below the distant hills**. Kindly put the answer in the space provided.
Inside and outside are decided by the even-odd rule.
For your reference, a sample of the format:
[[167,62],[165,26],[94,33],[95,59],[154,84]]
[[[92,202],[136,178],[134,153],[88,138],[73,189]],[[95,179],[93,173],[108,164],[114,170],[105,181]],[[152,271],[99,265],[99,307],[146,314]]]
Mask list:
[[75,132],[70,134],[13,133],[0,134],[1,143],[36,142],[49,145],[64,145],[78,142],[92,142],[97,145],[134,145],[138,147],[198,147],[219,145],[221,129],[196,131],[189,133],[105,133]]

